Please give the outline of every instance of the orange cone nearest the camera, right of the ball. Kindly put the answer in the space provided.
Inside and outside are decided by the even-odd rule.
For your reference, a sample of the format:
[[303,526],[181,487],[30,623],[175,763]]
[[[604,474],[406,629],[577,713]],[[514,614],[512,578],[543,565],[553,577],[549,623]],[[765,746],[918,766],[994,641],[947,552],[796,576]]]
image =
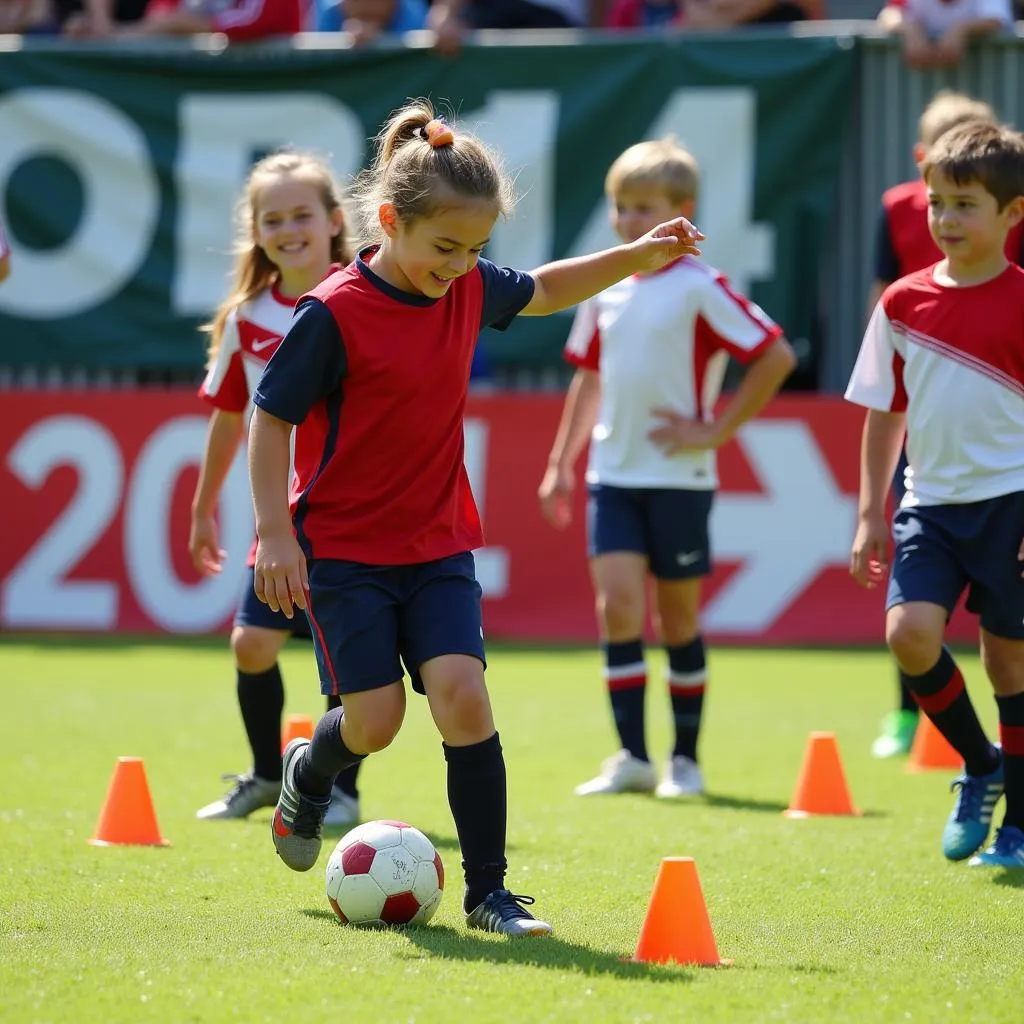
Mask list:
[[639,964],[725,967],[708,920],[692,857],[666,857],[657,869],[633,959]]

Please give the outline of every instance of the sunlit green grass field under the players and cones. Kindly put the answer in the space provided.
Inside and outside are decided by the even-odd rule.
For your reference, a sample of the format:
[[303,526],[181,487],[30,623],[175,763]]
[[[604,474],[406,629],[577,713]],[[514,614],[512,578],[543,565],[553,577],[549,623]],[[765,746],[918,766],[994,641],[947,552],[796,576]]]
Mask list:
[[[993,706],[964,655],[988,726]],[[668,743],[651,656],[652,754]],[[310,651],[283,668],[288,711],[317,715]],[[199,822],[246,767],[222,644],[0,645],[0,1020],[974,1022],[1024,1020],[1024,871],[947,863],[948,777],[867,755],[894,681],[881,652],[715,650],[701,753],[709,796],[584,801],[613,749],[592,651],[494,649],[508,761],[510,887],[551,939],[467,934],[444,764],[426,705],[362,776],[365,818],[441,851],[432,924],[339,925],[323,866],[290,872],[269,811]],[[656,677],[656,678],[655,678]],[[857,818],[794,821],[811,730],[835,731]],[[96,848],[115,759],[144,759],[169,848]],[[1001,807],[997,820],[1001,818]],[[337,835],[337,834],[336,834]],[[660,859],[692,856],[729,969],[629,962]]]

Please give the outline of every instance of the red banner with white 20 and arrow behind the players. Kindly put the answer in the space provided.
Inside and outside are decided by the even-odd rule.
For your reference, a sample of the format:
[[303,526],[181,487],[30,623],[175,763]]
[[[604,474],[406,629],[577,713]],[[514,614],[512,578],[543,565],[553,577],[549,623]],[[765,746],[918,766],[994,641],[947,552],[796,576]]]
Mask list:
[[[581,479],[571,526],[536,493],[561,396],[470,401],[466,463],[487,535],[477,552],[493,639],[596,636]],[[5,392],[0,398],[0,627],[124,633],[227,628],[252,509],[243,458],[220,507],[228,570],[200,580],[186,551],[207,410],[190,392]],[[783,396],[720,453],[707,587],[712,638],[752,643],[882,639],[883,595],[846,566],[862,414],[841,398]],[[958,612],[951,636],[976,637]]]

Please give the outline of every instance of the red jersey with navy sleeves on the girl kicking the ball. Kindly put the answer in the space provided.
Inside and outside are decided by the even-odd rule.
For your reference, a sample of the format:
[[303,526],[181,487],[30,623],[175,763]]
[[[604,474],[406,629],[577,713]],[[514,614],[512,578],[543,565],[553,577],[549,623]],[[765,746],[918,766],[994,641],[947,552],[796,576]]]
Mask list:
[[481,259],[430,299],[380,279],[370,252],[299,301],[253,400],[298,425],[291,508],[308,558],[433,561],[483,543],[463,465],[470,365],[534,280]]

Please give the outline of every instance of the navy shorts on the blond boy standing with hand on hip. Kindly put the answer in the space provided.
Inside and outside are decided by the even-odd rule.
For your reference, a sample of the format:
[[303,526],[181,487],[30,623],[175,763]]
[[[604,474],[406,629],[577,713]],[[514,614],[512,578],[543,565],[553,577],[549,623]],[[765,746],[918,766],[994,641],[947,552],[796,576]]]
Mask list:
[[588,552],[646,555],[657,580],[689,580],[711,572],[708,522],[714,490],[590,485]]

